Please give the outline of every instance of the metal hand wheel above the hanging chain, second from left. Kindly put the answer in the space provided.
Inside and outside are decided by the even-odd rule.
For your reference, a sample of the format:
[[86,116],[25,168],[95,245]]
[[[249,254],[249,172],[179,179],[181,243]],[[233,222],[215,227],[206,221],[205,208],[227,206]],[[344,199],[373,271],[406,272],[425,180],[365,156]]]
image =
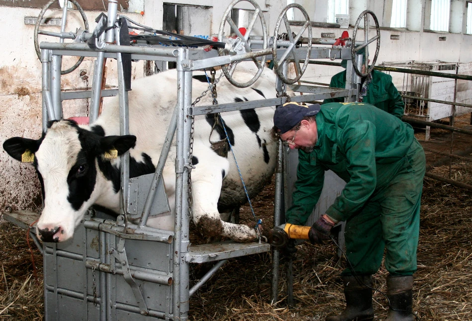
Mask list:
[[[238,26],[231,18],[231,13],[234,6],[237,3],[243,2],[243,1],[251,3],[255,8],[252,14],[252,17],[249,20],[249,25],[247,26],[246,32],[244,35],[241,33]],[[262,33],[263,33],[262,50],[265,50],[268,47],[269,37],[267,33],[266,20],[264,19],[264,16],[262,15],[262,10],[259,7],[259,5],[254,0],[234,0],[233,2],[231,2],[228,8],[226,8],[226,11],[223,14],[223,19],[221,20],[220,28],[218,31],[218,41],[220,42],[223,41],[224,27],[225,27],[226,22],[228,22],[228,24],[230,25],[231,33],[234,33],[236,35],[236,38],[234,38],[234,41],[231,40],[230,42],[227,42],[227,46],[229,46],[229,48],[219,49],[219,54],[227,55],[228,53],[238,53],[238,54],[251,53],[252,50],[251,50],[251,46],[248,39],[249,39],[249,36],[251,35],[251,32],[253,32],[254,25],[256,21],[258,20],[258,18],[261,22]],[[259,57],[252,57],[251,59],[257,68],[256,75],[251,80],[246,81],[246,82],[238,82],[233,79],[233,73],[236,69],[237,63],[233,63],[232,65],[229,65],[229,68],[228,66],[221,66],[221,69],[223,70],[226,79],[230,83],[235,85],[236,87],[240,87],[240,88],[250,86],[254,82],[256,82],[256,80],[259,78],[259,76],[261,76],[262,71],[264,70],[266,56],[264,55],[264,56],[259,56]]]

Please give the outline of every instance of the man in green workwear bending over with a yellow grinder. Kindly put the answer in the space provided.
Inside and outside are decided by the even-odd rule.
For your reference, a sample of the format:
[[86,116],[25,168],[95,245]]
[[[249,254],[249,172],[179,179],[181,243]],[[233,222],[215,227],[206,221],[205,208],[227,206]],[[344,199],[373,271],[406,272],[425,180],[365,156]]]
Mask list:
[[372,275],[385,252],[388,270],[386,320],[413,320],[420,198],[425,155],[413,128],[373,105],[286,103],[276,109],[273,133],[298,149],[297,180],[286,223],[304,225],[318,202],[324,172],[346,186],[311,227],[312,243],[329,240],[346,221],[343,272],[346,309],[327,321],[373,320]]

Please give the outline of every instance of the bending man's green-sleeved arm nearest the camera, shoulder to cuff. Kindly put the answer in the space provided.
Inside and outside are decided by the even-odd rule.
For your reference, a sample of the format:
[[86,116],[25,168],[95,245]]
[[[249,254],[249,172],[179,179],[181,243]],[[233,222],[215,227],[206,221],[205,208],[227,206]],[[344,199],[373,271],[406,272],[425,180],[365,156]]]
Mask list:
[[351,179],[326,214],[345,221],[364,205],[377,185],[375,126],[366,120],[354,121],[344,129],[338,144],[346,155]]

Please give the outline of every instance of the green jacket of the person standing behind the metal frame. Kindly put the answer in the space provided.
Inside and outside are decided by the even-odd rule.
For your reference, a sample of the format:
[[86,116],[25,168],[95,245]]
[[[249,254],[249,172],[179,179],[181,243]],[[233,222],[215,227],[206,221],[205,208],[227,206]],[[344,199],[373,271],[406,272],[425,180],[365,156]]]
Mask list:
[[[372,104],[381,110],[392,114],[401,119],[405,112],[405,104],[401,100],[400,93],[393,85],[390,75],[372,71],[372,81],[367,88],[367,95],[362,102]],[[330,87],[345,88],[346,87],[346,71],[338,73],[331,78]],[[344,102],[344,97],[325,99],[328,102]]]

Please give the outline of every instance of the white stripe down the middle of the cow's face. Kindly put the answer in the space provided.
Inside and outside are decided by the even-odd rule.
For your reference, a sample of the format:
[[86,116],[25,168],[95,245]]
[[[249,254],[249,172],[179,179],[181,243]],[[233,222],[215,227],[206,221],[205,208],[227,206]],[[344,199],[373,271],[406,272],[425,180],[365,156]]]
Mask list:
[[53,239],[65,241],[72,237],[79,212],[72,208],[69,195],[68,175],[77,162],[81,151],[79,135],[67,122],[56,122],[36,152],[37,169],[44,183],[44,208],[38,221],[38,230],[57,230]]

